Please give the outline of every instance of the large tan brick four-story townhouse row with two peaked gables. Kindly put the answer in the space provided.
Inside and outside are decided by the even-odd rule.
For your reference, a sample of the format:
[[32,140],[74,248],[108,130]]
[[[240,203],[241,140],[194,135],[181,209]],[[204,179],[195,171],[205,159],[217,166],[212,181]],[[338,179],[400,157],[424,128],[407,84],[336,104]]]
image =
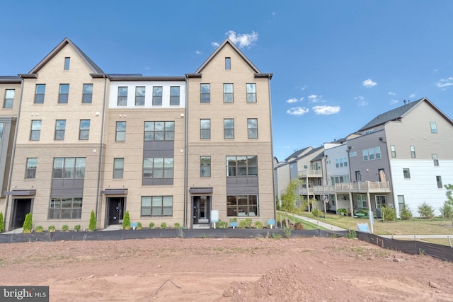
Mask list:
[[0,77],[6,230],[28,212],[57,228],[91,211],[98,228],[125,211],[144,226],[275,219],[271,78],[229,40],[195,74],[142,76],[105,74],[65,38]]

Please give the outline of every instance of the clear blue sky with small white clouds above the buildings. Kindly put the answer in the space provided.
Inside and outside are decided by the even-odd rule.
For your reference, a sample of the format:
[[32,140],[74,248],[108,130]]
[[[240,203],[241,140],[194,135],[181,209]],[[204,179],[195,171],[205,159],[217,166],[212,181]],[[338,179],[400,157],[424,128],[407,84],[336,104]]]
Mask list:
[[107,73],[183,76],[230,37],[273,73],[274,155],[357,131],[403,100],[453,117],[453,1],[0,1],[0,75],[64,37]]

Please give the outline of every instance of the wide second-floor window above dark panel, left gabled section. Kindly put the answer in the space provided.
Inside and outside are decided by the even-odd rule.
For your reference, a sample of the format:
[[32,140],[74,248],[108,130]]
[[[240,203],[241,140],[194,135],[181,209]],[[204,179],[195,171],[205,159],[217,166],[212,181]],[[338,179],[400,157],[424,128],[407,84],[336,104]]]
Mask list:
[[54,158],[52,178],[55,179],[84,179],[85,158],[84,157],[57,157]]

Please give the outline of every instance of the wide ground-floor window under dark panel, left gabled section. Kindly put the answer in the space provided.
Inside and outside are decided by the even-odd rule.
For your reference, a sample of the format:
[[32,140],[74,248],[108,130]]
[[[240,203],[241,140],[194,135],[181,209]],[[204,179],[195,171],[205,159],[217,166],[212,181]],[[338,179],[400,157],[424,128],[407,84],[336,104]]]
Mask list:
[[57,197],[50,199],[49,219],[81,219],[81,197]]

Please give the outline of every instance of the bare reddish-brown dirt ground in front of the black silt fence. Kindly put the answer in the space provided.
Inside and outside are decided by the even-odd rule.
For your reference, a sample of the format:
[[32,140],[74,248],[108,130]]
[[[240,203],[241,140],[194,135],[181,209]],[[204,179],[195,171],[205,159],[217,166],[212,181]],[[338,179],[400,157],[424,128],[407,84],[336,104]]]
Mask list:
[[168,238],[0,245],[0,285],[50,301],[453,301],[453,263],[357,239]]

